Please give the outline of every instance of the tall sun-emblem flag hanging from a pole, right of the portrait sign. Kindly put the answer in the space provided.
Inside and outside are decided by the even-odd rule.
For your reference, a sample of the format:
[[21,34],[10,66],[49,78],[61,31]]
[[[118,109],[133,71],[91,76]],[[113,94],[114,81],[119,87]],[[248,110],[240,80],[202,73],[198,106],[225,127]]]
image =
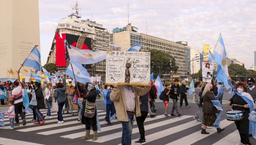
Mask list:
[[221,37],[221,34],[219,36],[216,47],[214,49],[213,57],[214,57],[214,60],[219,64],[217,74],[216,74],[216,80],[218,80],[218,82],[223,82],[226,89],[229,89],[230,86],[228,84],[229,75],[228,75],[226,50],[225,50],[225,45]]

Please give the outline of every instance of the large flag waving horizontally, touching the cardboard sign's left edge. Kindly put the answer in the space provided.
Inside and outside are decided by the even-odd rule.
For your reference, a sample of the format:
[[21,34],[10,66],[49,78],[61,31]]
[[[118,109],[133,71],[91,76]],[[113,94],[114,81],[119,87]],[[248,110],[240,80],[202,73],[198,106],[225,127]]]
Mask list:
[[106,59],[106,51],[91,51],[81,50],[70,45],[71,49],[68,48],[70,60],[80,64],[95,64]]

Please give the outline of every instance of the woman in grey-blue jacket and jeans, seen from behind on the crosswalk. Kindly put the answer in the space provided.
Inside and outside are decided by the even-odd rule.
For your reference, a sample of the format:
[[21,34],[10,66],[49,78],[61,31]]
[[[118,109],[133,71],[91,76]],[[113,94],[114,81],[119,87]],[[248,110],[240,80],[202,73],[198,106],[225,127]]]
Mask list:
[[62,83],[57,83],[56,84],[56,89],[54,91],[54,98],[58,102],[58,123],[64,123],[63,121],[63,116],[62,116],[62,108],[65,105],[66,102],[66,79],[64,79],[64,76],[62,76],[63,84]]

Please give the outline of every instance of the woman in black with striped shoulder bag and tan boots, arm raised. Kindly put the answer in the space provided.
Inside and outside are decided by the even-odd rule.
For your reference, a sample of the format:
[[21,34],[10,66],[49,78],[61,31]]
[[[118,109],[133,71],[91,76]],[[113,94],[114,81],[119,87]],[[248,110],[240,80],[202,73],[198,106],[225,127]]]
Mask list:
[[[76,80],[75,80],[76,83]],[[97,98],[97,90],[94,87],[94,83],[89,82],[88,84],[88,88],[87,88],[87,93],[86,90],[84,88],[82,88],[80,85],[77,85],[78,90],[84,94],[83,97],[80,98],[80,101],[83,102],[83,109],[82,109],[82,124],[85,125],[85,136],[82,136],[82,139],[86,139],[86,138],[90,138],[90,129],[92,127],[93,130],[93,138],[92,141],[95,141],[98,139],[98,128],[97,128],[97,108],[95,106],[96,103],[96,98]],[[94,116],[93,117],[86,117],[85,116],[85,109],[86,109],[86,100],[87,103],[91,103],[94,104],[93,107],[95,107],[95,111],[94,111]],[[88,113],[88,110],[86,110],[86,113]]]

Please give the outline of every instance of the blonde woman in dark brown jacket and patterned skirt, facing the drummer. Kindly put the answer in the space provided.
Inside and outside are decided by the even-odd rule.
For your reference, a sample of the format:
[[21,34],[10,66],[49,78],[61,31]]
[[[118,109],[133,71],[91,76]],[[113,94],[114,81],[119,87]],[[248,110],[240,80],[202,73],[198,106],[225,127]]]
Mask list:
[[[212,93],[212,84],[208,83],[205,85],[203,90],[203,129],[201,134],[209,134],[205,131],[207,126],[213,126],[217,119],[216,113],[218,110],[216,107],[213,106],[211,100],[216,100],[215,96]],[[221,129],[220,127],[217,128],[217,132],[220,133],[224,131],[224,128]]]

